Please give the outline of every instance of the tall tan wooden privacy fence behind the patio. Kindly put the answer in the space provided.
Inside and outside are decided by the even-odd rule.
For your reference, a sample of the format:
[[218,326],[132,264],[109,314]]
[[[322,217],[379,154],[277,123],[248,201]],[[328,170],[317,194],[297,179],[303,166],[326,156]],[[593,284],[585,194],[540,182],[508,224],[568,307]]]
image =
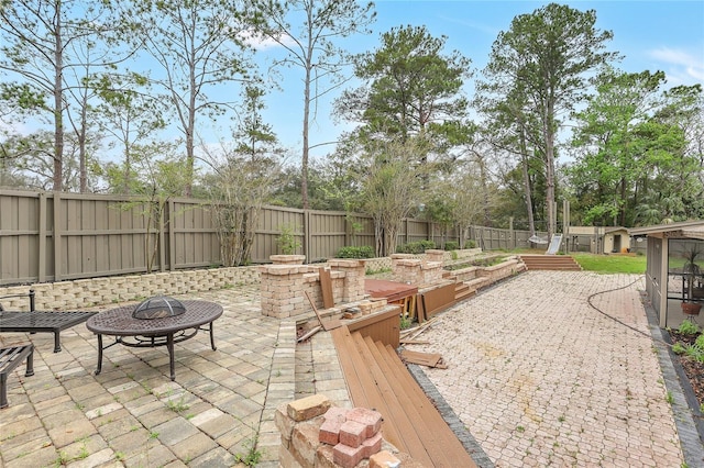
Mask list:
[[[344,246],[374,246],[374,223],[363,214],[265,207],[255,230],[253,264],[278,254],[282,227],[293,230],[308,263]],[[354,229],[353,229],[354,226]],[[473,227],[484,249],[527,245],[525,231]],[[398,244],[459,242],[457,230],[404,220]],[[481,239],[481,242],[480,242]],[[0,190],[0,285],[220,266],[210,203],[169,199],[158,218],[128,197]]]

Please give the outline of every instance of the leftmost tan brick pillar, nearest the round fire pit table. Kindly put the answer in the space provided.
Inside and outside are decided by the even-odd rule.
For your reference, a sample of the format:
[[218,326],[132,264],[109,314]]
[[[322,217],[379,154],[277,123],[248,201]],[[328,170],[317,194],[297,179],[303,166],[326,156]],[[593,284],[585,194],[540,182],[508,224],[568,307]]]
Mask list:
[[308,267],[263,265],[260,267],[262,315],[285,319],[306,313],[304,275]]

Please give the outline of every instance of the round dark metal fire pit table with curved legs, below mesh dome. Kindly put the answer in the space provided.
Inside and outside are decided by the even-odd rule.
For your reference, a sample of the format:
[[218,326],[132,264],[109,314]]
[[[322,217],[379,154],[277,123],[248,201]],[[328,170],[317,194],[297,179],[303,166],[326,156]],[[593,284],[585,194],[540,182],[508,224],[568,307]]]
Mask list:
[[[174,343],[196,336],[198,331],[210,332],[210,347],[216,350],[212,323],[222,315],[222,305],[208,301],[182,301],[186,312],[162,319],[134,319],[135,305],[125,305],[100,312],[86,322],[86,327],[98,335],[98,368],[102,370],[102,352],[121,344],[129,347],[166,346],[170,366],[170,378],[176,379],[174,366]],[[207,325],[207,327],[204,327]],[[114,343],[102,345],[102,335],[114,336]]]

